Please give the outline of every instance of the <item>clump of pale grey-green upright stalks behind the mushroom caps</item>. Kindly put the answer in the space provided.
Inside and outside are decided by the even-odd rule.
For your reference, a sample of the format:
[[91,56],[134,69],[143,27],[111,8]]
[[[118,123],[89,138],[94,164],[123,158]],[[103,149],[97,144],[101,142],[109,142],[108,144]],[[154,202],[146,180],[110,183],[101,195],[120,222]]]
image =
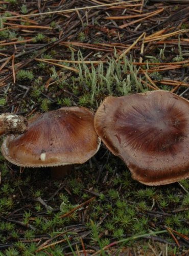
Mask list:
[[[75,60],[74,55],[72,55],[72,60]],[[78,60],[83,61],[80,51],[78,52]],[[116,59],[111,58],[106,64],[99,63],[97,67],[94,67],[93,63],[88,67],[82,62],[75,65],[75,68],[79,70],[78,82],[83,84],[84,90],[91,92],[91,104],[101,93],[111,95],[115,90],[121,95],[127,95],[133,89],[136,91],[144,90],[138,77],[138,70],[126,57],[123,57],[123,61],[116,61]],[[125,78],[127,73],[129,74]]]

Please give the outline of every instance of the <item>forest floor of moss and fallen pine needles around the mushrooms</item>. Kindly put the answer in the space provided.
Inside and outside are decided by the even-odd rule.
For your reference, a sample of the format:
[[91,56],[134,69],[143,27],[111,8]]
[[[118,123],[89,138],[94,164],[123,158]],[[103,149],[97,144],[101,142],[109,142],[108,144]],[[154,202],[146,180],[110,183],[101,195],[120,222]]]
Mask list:
[[[187,0],[0,1],[1,113],[188,99],[188,38]],[[0,161],[0,255],[188,255],[188,180],[140,184],[105,145],[63,181]]]

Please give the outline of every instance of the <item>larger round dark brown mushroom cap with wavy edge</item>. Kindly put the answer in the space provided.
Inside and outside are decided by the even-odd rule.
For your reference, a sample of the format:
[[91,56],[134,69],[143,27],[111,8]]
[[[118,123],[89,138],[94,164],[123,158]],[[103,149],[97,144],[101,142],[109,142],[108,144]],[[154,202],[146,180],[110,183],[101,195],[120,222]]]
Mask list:
[[189,102],[167,91],[107,97],[95,129],[132,177],[161,185],[189,177]]

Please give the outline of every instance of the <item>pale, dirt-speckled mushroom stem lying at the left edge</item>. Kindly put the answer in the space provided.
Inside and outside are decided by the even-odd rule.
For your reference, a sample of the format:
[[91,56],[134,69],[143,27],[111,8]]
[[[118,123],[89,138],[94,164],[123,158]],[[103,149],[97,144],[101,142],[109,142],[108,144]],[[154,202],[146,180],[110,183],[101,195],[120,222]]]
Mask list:
[[0,136],[4,134],[21,134],[28,129],[26,118],[15,114],[0,115]]

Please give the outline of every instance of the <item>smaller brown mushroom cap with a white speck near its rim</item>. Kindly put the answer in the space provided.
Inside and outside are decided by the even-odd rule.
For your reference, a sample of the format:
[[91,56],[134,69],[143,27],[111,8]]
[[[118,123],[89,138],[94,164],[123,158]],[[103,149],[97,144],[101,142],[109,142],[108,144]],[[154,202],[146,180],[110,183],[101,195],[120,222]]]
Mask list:
[[28,131],[8,136],[4,157],[19,166],[41,167],[84,163],[98,151],[94,115],[82,107],[65,107],[35,115]]

